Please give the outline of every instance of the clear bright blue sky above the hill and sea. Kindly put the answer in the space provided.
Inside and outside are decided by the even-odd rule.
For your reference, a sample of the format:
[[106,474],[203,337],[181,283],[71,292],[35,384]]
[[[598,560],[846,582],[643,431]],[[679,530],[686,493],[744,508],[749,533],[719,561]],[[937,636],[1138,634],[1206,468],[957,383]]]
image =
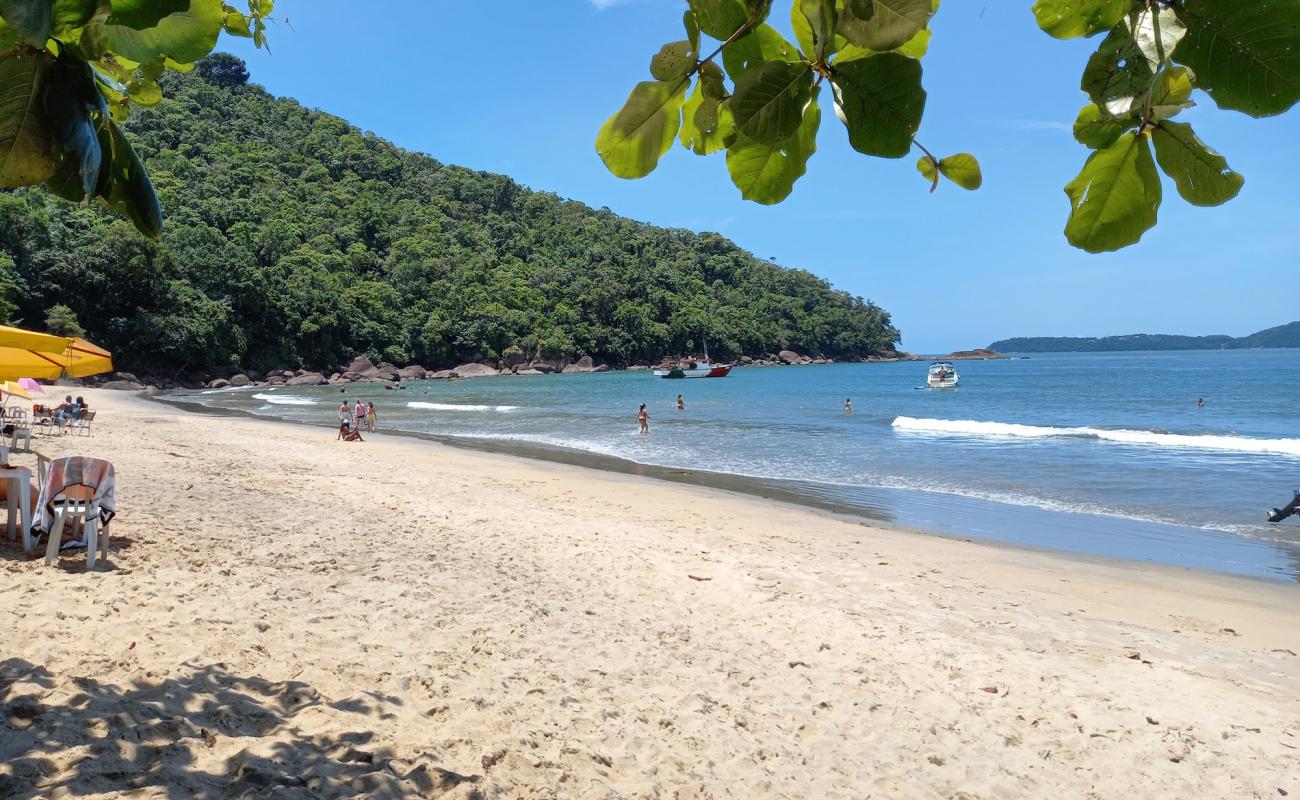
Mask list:
[[[786,30],[789,0],[774,22]],[[904,347],[1009,336],[1245,334],[1300,319],[1300,111],[1251,120],[1201,105],[1180,117],[1245,176],[1221,208],[1166,182],[1160,225],[1117,254],[1061,233],[1062,191],[1087,155],[1070,135],[1096,40],[1040,33],[1031,0],[949,0],[924,60],[919,139],[970,151],[984,187],[933,195],[915,157],[868,159],[823,114],[794,194],[740,199],[723,156],[675,148],[640,181],[610,176],[593,142],[664,42],[684,0],[280,0],[272,52],[224,38],[252,79],[445,163],[512,176],[656,225],[716,230],[893,312]]]

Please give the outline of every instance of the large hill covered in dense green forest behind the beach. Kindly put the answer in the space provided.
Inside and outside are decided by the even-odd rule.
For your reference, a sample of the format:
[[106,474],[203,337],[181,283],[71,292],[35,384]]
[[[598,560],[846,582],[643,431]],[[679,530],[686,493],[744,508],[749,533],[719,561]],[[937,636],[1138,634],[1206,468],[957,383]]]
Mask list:
[[0,319],[39,328],[66,304],[120,364],[157,369],[447,366],[512,345],[625,364],[705,336],[725,358],[853,358],[898,341],[875,304],[722,235],[439,164],[246,81],[216,56],[130,121],[160,243],[44,191],[0,195]]

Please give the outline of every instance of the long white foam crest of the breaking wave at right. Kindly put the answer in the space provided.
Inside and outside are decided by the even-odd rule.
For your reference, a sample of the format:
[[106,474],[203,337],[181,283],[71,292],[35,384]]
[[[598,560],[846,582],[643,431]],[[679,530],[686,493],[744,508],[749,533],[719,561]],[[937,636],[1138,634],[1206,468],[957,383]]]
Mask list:
[[1268,453],[1300,458],[1300,438],[1251,438],[1247,436],[1161,433],[1157,431],[1127,429],[1112,431],[1108,428],[1053,428],[1050,425],[987,423],[970,419],[916,419],[914,416],[896,418],[893,420],[893,427],[900,431],[916,431],[922,433],[1002,436],[1017,438],[1096,438],[1124,445],[1192,447],[1197,450],[1225,450],[1231,453]]

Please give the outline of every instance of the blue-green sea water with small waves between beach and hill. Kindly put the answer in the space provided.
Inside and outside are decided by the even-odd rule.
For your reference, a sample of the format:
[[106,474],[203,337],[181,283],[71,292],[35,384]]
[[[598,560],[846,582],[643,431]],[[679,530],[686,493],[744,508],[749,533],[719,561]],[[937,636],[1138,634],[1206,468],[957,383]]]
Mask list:
[[[945,535],[1300,574],[1300,524],[1265,522],[1300,488],[1300,350],[961,362],[956,390],[922,388],[926,367],[754,367],[685,381],[647,372],[489,377],[172,399],[333,427],[341,399],[361,398],[374,401],[386,432],[646,471]],[[642,402],[649,436],[637,433]]]

